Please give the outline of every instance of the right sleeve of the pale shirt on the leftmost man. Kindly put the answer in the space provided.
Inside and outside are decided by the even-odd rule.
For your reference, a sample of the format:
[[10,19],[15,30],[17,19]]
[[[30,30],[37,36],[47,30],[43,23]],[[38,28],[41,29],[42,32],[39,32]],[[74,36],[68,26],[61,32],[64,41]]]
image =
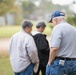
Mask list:
[[26,47],[27,47],[28,55],[29,55],[32,63],[39,62],[37,48],[36,48],[33,37],[29,38]]

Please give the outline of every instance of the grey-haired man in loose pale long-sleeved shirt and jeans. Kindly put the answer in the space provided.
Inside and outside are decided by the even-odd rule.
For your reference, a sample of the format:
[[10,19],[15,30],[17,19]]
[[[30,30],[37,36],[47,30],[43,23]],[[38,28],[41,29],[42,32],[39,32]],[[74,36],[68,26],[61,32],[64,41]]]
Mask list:
[[15,75],[31,75],[37,71],[38,55],[34,40],[30,34],[33,24],[30,21],[22,23],[22,30],[14,34],[10,40],[10,62]]

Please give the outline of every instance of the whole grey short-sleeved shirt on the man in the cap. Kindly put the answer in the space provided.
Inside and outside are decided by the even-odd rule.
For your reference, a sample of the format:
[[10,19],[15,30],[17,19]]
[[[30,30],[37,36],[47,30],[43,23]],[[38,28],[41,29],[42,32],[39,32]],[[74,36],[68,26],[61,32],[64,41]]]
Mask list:
[[76,28],[60,22],[52,31],[50,47],[59,47],[56,56],[76,58]]

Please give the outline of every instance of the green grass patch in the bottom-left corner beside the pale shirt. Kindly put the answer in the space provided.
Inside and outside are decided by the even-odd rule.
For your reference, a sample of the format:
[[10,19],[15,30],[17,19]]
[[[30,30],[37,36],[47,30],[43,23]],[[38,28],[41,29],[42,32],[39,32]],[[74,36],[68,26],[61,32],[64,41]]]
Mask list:
[[8,57],[0,58],[0,75],[14,75]]

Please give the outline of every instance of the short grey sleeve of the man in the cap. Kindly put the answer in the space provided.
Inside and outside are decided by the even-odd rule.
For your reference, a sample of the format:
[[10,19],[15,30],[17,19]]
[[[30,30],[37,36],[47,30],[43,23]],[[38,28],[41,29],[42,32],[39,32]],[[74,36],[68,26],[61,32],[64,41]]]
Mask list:
[[62,39],[62,31],[58,27],[55,27],[52,31],[50,47],[59,47]]

